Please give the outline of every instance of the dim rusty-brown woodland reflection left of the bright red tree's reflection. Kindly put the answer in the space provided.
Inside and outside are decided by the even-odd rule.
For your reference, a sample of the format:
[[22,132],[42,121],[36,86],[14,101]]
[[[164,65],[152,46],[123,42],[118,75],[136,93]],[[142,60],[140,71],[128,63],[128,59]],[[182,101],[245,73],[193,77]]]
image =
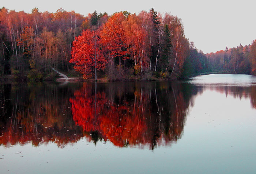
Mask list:
[[0,86],[0,144],[76,142],[82,133],[72,121],[71,87],[57,85]]

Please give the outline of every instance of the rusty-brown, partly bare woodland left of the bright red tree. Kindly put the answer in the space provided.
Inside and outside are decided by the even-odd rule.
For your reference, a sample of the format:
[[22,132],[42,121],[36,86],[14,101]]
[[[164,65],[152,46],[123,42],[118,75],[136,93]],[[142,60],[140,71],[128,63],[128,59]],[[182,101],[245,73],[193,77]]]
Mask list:
[[34,80],[52,75],[51,67],[71,70],[72,42],[89,17],[58,9],[56,13],[0,9],[0,74]]

